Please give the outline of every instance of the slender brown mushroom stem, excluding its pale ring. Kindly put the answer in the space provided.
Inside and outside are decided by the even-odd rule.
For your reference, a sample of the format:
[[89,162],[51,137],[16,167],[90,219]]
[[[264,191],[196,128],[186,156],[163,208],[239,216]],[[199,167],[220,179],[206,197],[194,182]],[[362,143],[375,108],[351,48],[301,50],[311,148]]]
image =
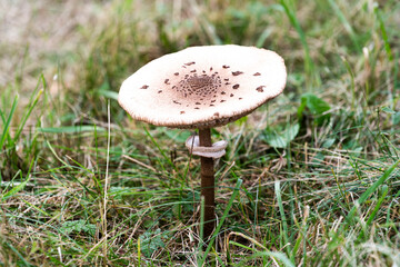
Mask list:
[[[202,147],[211,147],[211,129],[199,129],[199,141]],[[214,170],[213,158],[200,157],[201,196],[204,197],[203,240],[208,240],[214,229]]]

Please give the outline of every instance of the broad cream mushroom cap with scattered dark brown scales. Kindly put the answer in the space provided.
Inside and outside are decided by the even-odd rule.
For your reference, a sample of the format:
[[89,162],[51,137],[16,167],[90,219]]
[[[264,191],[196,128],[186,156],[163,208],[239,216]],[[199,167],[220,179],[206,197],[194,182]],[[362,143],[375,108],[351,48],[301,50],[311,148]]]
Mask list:
[[156,126],[211,128],[252,112],[283,91],[276,52],[236,44],[190,47],[154,59],[123,81],[118,101]]

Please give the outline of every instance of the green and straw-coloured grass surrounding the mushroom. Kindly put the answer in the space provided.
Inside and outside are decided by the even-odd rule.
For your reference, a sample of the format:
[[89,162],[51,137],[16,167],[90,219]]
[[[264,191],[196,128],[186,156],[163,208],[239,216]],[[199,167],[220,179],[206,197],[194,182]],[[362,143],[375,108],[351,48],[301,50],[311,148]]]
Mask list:
[[[56,56],[21,39],[0,80],[1,266],[400,265],[398,1],[89,7]],[[151,59],[232,42],[279,52],[288,85],[213,130],[229,146],[202,251],[191,132],[133,121],[116,98]]]

